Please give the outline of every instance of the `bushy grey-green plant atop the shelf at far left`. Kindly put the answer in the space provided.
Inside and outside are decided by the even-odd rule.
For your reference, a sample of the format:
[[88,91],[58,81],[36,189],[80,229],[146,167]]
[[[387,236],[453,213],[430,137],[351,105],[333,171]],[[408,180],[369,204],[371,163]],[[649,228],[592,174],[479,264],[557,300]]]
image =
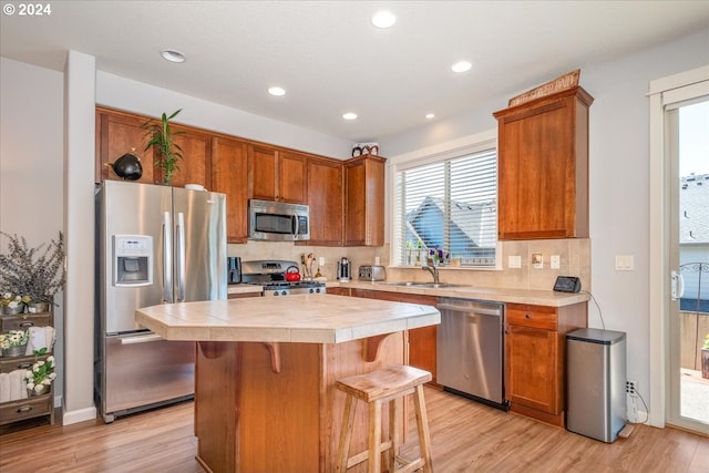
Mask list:
[[30,248],[24,237],[0,233],[8,238],[8,253],[0,254],[0,294],[27,297],[32,304],[52,304],[64,287],[64,238]]

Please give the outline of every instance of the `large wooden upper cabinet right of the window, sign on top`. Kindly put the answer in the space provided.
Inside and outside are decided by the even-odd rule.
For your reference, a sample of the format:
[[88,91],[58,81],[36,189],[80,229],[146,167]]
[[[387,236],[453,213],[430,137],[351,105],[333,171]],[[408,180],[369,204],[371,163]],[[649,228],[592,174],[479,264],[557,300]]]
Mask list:
[[588,107],[579,86],[494,113],[500,239],[588,237]]

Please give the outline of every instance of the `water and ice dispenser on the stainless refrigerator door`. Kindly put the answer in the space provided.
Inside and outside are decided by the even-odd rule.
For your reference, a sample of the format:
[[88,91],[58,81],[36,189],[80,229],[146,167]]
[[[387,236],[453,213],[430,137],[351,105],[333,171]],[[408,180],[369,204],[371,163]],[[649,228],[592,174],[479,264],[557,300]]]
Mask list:
[[148,286],[153,284],[153,237],[113,235],[113,285]]

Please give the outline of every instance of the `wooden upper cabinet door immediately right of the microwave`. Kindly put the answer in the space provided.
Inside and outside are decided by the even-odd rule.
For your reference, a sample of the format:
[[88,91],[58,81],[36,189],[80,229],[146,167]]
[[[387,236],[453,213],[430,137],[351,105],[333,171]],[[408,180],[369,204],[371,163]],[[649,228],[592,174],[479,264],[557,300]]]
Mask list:
[[307,245],[342,245],[342,163],[308,160],[310,240]]

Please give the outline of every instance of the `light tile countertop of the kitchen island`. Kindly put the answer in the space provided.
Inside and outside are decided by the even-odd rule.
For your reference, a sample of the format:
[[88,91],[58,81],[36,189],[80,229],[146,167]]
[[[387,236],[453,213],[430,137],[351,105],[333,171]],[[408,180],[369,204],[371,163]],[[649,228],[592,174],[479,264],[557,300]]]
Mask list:
[[430,306],[332,295],[151,306],[135,320],[166,340],[342,343],[441,322]]

